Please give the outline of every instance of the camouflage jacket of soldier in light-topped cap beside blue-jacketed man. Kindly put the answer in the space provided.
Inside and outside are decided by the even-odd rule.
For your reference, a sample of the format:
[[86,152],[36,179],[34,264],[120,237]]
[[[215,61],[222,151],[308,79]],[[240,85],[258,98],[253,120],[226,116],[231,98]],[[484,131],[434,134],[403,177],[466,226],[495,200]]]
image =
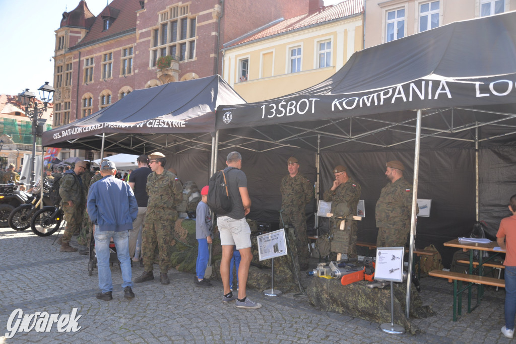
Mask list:
[[178,212],[175,207],[183,201],[183,188],[178,177],[170,171],[162,174],[152,172],[147,176],[147,215],[157,221],[175,221]]

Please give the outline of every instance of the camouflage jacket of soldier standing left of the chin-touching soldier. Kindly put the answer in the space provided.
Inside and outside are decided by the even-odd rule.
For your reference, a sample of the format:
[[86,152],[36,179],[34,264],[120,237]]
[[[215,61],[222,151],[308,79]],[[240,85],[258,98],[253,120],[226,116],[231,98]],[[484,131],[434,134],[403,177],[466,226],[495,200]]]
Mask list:
[[314,198],[314,188],[301,173],[292,178],[289,174],[281,179],[281,209],[286,214],[303,212],[304,206]]

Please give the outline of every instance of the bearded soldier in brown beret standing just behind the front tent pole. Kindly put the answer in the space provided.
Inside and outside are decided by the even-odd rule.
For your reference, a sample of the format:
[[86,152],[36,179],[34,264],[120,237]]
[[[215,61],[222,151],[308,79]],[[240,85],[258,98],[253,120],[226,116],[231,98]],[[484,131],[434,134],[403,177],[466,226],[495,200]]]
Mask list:
[[[410,232],[412,184],[403,177],[405,167],[398,161],[385,164],[388,183],[376,202],[377,247],[404,247]],[[416,214],[419,209],[416,208]]]

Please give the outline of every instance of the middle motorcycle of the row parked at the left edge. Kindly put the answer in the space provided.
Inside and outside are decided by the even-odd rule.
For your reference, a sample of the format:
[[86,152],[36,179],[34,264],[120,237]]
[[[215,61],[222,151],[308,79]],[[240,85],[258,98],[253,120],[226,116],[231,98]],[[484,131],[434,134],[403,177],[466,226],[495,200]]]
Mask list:
[[[50,187],[50,183],[45,180],[43,183],[43,205],[45,206],[52,204],[49,198],[49,192],[47,191],[50,190]],[[8,218],[9,226],[15,231],[26,230],[30,227],[30,219],[39,209],[41,203],[41,190],[39,188],[35,188],[33,195],[30,196],[27,203],[22,204],[11,211]]]

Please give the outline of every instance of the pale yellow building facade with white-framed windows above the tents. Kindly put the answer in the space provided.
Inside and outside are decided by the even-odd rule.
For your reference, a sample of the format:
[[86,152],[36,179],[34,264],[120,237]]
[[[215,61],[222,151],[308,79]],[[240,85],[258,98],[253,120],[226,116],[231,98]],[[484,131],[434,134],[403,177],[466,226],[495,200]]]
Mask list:
[[[357,6],[354,13],[338,8],[355,2],[291,19],[292,29],[282,21],[225,44],[222,77],[247,102],[300,91],[329,78],[363,47],[363,7]],[[348,15],[333,19],[330,10]],[[314,21],[318,22],[310,24]]]

